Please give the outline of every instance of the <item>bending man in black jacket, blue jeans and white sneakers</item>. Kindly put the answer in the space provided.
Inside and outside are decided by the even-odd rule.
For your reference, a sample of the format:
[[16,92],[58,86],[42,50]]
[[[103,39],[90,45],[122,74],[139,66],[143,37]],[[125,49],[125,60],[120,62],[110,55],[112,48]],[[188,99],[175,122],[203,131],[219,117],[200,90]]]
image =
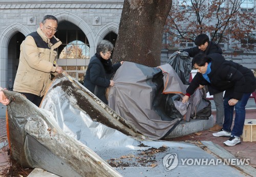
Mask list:
[[[256,78],[251,70],[242,65],[226,61],[221,54],[198,54],[193,60],[198,73],[186,90],[182,102],[188,101],[190,95],[201,85],[211,85],[214,89],[225,91],[223,128],[214,134],[215,137],[230,137],[224,144],[234,146],[240,144],[245,121],[245,105],[252,92],[256,89]],[[236,110],[234,126],[233,110]]]

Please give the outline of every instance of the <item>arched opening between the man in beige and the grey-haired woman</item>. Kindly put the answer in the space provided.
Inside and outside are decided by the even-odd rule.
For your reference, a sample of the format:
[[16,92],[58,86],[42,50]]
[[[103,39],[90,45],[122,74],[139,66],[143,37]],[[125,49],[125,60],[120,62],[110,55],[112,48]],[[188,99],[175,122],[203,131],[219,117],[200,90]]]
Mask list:
[[90,60],[90,44],[86,35],[69,21],[61,21],[55,36],[62,42],[57,48],[59,66],[82,83]]

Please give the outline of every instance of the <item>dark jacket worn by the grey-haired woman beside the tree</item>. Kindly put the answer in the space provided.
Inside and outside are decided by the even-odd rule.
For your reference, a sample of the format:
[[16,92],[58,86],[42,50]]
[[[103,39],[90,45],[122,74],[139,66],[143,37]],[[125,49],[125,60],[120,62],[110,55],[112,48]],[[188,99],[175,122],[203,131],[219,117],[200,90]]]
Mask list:
[[111,59],[105,60],[100,55],[95,54],[88,65],[83,85],[101,101],[108,104],[105,96],[106,88],[110,86],[112,74],[120,66],[120,62],[112,65]]

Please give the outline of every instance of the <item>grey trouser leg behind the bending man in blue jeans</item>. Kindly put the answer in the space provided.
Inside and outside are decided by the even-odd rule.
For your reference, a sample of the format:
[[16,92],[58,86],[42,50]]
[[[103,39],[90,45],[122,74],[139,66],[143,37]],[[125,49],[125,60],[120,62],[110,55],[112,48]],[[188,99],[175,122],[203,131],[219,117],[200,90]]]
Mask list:
[[222,126],[224,120],[223,92],[214,95],[214,103],[216,106],[216,124]]

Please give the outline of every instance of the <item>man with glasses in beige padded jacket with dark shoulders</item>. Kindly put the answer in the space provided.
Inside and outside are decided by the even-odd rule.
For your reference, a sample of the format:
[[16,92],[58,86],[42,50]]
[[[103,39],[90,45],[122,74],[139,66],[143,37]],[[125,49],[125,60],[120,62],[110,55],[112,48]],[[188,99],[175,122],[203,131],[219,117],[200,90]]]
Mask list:
[[54,36],[57,27],[58,19],[46,15],[36,32],[30,33],[20,45],[13,91],[25,95],[37,106],[51,83],[51,73],[55,75],[63,71],[56,64],[57,48],[61,45]]

